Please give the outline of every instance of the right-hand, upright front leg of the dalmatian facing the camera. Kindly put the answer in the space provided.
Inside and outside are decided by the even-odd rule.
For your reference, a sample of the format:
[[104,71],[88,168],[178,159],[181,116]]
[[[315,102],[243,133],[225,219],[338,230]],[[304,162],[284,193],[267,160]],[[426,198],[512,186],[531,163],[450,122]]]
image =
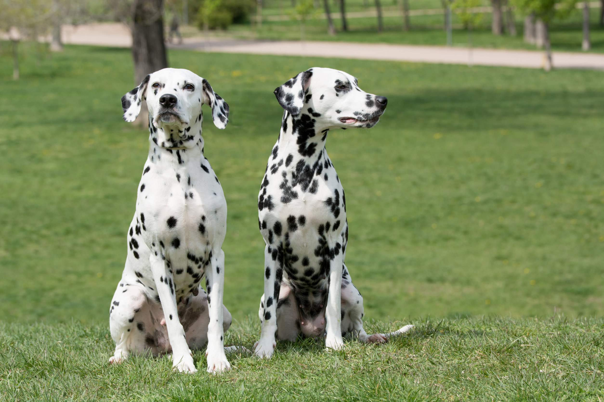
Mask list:
[[213,250],[210,268],[205,269],[205,284],[208,291],[208,347],[205,357],[208,360],[208,372],[220,372],[231,368],[226,360],[224,347],[224,328],[222,326],[222,294],[225,283],[225,253],[218,248]]

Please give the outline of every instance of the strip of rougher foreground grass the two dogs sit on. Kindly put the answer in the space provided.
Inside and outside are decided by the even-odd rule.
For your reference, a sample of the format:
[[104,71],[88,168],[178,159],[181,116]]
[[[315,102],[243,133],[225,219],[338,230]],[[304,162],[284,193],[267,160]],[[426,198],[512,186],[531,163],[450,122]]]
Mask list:
[[[397,323],[400,325],[400,322]],[[271,360],[230,355],[232,370],[172,371],[170,357],[109,365],[106,325],[0,324],[5,401],[601,401],[602,319],[420,321],[384,345],[327,352],[281,342]],[[395,323],[368,325],[392,330]],[[259,323],[236,322],[225,342],[251,348]]]

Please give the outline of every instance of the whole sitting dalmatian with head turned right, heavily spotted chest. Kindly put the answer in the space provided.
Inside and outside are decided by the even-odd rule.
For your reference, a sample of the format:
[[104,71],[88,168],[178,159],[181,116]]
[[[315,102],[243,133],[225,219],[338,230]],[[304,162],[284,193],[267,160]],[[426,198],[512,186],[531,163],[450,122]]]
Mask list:
[[387,334],[363,329],[363,298],[344,264],[348,240],[344,189],[325,142],[335,128],[373,127],[387,99],[362,91],[355,77],[312,68],[275,89],[285,109],[258,196],[264,237],[262,322],[255,354],[271,357],[277,339],[298,334],[341,349],[346,334],[361,342],[385,342],[413,328]]

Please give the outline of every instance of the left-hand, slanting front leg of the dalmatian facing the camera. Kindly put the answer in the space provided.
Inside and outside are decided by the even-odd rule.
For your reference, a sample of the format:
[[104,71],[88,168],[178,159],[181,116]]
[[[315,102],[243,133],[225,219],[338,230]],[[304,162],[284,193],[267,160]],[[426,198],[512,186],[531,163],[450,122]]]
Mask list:
[[164,310],[165,326],[168,330],[168,339],[172,346],[172,365],[180,372],[196,372],[193,354],[187,345],[185,331],[178,319],[174,278],[170,273],[167,263],[159,256],[151,253],[149,257],[153,279],[157,286],[159,302]]

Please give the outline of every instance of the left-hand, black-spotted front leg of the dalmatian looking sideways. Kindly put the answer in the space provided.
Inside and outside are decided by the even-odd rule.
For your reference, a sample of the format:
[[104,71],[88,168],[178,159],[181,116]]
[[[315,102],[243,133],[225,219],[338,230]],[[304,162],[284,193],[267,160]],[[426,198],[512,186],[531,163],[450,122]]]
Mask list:
[[[281,289],[281,277],[277,275],[276,266],[277,262],[272,259],[269,245],[266,245],[264,313],[260,319],[262,321],[262,331],[260,332],[260,341],[255,344],[254,352],[258,357],[271,357],[275,347],[277,347],[275,332],[277,331],[277,301]],[[262,309],[262,306],[260,308]]]

